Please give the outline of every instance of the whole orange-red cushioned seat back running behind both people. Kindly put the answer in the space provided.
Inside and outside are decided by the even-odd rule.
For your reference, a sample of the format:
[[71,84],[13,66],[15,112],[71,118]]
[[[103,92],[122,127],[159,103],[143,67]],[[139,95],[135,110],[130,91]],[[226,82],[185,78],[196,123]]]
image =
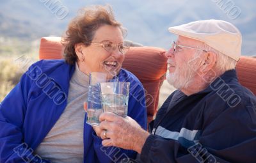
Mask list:
[[[41,39],[39,58],[60,59],[63,47],[60,37]],[[164,50],[156,47],[132,47],[127,54],[123,67],[140,79],[146,90],[148,123],[157,111],[159,89],[166,74]],[[236,66],[239,82],[256,95],[256,58],[242,56]]]

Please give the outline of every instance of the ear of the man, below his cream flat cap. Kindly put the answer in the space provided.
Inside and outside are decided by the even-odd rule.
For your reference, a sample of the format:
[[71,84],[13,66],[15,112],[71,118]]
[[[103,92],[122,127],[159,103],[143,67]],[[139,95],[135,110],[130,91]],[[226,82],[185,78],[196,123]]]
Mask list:
[[206,74],[213,69],[216,63],[216,54],[214,52],[205,52],[203,65],[200,67],[201,72]]

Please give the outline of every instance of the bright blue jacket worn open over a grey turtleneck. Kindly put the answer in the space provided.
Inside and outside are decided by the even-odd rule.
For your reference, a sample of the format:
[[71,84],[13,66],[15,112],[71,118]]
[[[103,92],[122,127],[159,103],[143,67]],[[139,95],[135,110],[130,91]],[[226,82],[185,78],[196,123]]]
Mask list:
[[[51,162],[33,151],[43,141],[67,105],[68,86],[75,66],[63,60],[42,60],[29,67],[19,84],[0,104],[0,162]],[[119,81],[130,83],[128,116],[147,128],[144,89],[121,69]],[[86,120],[86,116],[84,118]],[[135,157],[131,150],[105,148],[93,128],[84,123],[84,162],[115,162]]]

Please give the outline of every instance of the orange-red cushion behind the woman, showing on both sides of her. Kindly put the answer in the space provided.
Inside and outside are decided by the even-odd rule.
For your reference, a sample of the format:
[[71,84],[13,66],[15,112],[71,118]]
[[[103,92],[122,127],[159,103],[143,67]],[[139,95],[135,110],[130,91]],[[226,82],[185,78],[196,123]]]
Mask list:
[[[63,47],[60,41],[60,37],[41,38],[39,59],[61,59]],[[148,123],[156,114],[159,90],[165,79],[167,59],[164,52],[157,47],[131,47],[122,66],[136,75],[145,88]]]

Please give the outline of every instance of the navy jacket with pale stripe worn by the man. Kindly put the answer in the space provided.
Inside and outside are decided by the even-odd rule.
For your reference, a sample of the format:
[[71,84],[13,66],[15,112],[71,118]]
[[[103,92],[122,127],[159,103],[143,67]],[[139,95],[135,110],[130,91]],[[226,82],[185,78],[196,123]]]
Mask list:
[[236,70],[190,96],[175,91],[150,123],[141,162],[256,162],[256,98]]

